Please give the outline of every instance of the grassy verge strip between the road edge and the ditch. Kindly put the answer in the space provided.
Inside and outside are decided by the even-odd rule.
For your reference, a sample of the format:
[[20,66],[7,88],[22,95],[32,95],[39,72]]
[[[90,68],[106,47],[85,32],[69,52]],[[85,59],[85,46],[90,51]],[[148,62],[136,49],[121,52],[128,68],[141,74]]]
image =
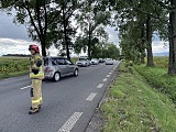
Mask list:
[[[143,66],[141,69],[145,72]],[[152,76],[155,73],[151,70],[146,73]],[[157,80],[161,76],[165,78],[165,70],[158,70]],[[100,108],[106,121],[103,132],[176,132],[173,100],[148,85],[133,67],[124,67],[122,63],[120,73],[109,89],[108,100]]]

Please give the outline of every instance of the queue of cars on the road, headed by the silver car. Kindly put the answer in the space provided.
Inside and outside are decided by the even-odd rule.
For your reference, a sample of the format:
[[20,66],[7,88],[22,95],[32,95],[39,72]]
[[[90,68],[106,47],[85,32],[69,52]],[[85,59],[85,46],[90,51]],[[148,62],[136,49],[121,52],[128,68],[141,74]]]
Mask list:
[[113,65],[111,58],[91,58],[79,57],[76,63],[62,56],[44,57],[44,80],[58,81],[62,77],[79,75],[79,67],[88,67],[90,65],[98,65],[105,63],[106,65]]

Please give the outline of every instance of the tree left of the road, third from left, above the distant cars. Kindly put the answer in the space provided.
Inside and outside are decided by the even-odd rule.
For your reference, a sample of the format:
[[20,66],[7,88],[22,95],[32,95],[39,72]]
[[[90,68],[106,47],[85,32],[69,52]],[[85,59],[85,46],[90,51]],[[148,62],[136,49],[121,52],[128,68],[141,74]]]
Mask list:
[[[105,25],[109,23],[110,12],[100,11],[97,0],[87,0],[84,2],[82,8],[79,10],[79,14],[76,16],[80,24],[82,37],[87,38],[88,56],[91,58],[91,42],[94,37],[103,36]],[[101,31],[101,33],[100,33]],[[105,35],[107,37],[107,35]]]

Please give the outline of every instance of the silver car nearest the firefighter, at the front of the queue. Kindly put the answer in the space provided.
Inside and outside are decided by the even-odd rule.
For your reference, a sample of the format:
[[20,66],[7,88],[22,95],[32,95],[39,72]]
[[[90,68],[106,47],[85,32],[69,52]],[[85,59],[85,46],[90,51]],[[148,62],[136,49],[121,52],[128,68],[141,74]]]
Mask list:
[[78,66],[65,57],[44,57],[45,79],[58,81],[62,77],[78,76]]

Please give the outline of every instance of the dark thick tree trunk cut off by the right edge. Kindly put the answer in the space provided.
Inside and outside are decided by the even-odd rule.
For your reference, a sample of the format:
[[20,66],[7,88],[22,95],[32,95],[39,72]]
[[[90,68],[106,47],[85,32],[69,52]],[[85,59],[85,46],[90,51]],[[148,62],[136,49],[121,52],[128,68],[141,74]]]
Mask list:
[[168,75],[176,75],[176,1],[170,0],[173,8],[169,13],[169,62],[168,62]]

